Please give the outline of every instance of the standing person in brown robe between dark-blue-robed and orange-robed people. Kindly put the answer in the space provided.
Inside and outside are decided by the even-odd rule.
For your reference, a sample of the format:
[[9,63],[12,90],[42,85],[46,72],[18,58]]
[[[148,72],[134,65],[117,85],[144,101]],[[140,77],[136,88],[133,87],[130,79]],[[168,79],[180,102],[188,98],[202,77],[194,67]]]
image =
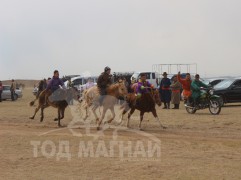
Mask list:
[[179,109],[182,85],[177,81],[177,76],[174,76],[170,87],[172,89],[172,104],[174,104],[172,109]]

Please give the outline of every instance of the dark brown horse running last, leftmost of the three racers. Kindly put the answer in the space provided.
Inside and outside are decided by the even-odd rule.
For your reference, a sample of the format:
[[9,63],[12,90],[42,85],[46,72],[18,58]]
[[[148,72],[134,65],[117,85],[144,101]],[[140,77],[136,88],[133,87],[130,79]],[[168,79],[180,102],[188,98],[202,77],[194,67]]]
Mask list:
[[[58,89],[47,99],[47,103],[45,104],[45,95],[48,91],[44,90],[39,94],[38,97],[38,107],[35,109],[34,115],[30,117],[30,119],[34,119],[36,113],[41,109],[41,117],[40,122],[44,119],[44,109],[52,106],[58,109],[58,117],[55,118],[55,121],[58,121],[58,126],[60,127],[60,120],[64,118],[65,108],[68,106],[68,103],[73,99],[78,99],[78,91],[75,88],[69,88],[67,90]],[[55,96],[55,97],[54,97]],[[53,100],[51,100],[53,99]],[[33,106],[35,101],[30,102],[30,106]]]

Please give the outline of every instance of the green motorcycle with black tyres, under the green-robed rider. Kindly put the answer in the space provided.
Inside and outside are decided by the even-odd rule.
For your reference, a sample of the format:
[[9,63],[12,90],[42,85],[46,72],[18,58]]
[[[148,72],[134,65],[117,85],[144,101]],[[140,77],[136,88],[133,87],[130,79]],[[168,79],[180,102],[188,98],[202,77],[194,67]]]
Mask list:
[[220,97],[213,94],[212,88],[201,88],[201,96],[196,104],[192,98],[189,98],[185,107],[189,114],[194,114],[197,110],[209,108],[211,114],[218,115],[221,112],[222,104]]

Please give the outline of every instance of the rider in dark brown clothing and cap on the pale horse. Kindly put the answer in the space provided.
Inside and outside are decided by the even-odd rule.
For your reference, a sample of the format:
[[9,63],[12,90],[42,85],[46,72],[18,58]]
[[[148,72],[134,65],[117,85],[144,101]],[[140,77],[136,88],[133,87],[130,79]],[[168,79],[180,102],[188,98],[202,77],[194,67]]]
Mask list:
[[107,88],[112,84],[112,76],[111,76],[111,69],[107,66],[104,69],[104,72],[98,77],[97,80],[97,87],[100,92],[100,99],[99,102],[102,103],[104,96],[107,94]]

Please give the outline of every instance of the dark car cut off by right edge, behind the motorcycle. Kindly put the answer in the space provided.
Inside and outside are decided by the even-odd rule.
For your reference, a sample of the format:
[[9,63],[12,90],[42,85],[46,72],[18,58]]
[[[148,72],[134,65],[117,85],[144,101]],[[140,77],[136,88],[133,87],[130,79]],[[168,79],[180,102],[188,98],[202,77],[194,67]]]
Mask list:
[[241,102],[241,78],[225,79],[213,87],[223,103]]

